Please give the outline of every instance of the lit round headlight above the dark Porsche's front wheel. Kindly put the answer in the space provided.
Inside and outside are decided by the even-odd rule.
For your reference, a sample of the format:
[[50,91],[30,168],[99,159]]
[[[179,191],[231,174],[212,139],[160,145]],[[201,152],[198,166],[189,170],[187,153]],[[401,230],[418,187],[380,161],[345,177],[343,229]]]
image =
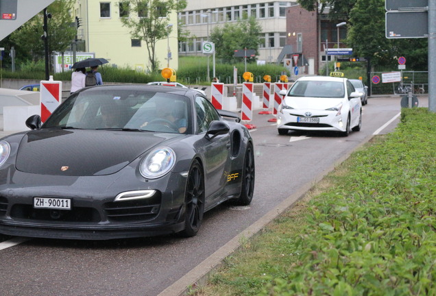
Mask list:
[[147,179],[156,179],[162,177],[175,164],[175,153],[169,147],[159,147],[150,152],[145,157],[139,166],[139,172]]

